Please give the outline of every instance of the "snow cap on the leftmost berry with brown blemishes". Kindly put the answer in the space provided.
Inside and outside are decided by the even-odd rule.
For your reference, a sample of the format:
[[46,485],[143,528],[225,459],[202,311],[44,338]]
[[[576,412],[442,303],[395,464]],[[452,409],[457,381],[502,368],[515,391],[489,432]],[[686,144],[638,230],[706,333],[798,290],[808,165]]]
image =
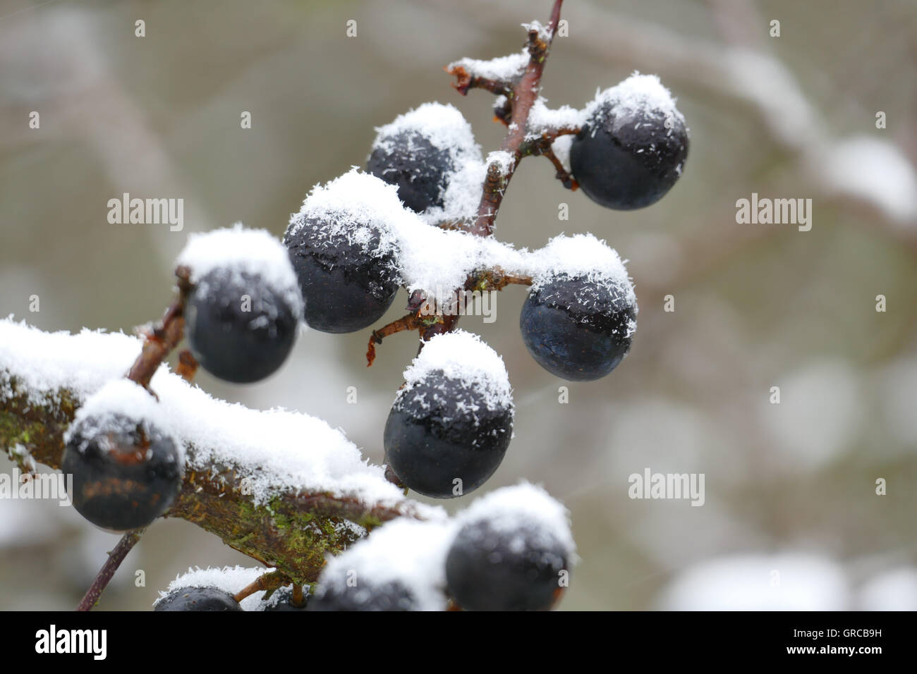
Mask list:
[[[64,433],[64,441],[70,442],[78,430],[83,443],[77,449],[83,452],[96,434],[130,433],[138,425],[142,425],[148,434],[151,428],[167,436],[173,434],[171,418],[164,413],[156,398],[138,383],[122,377],[106,381],[101,389],[83,402],[73,417],[72,425]],[[174,438],[172,441],[181,456],[182,443]]]

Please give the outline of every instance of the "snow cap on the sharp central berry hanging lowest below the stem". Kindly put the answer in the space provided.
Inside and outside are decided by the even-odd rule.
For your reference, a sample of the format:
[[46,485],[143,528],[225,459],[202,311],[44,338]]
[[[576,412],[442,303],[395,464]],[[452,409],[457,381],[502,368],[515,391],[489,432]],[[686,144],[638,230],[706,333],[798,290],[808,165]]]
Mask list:
[[410,392],[435,370],[482,393],[489,410],[503,411],[513,406],[513,389],[503,359],[477,335],[456,330],[426,342],[414,362],[404,370],[406,386],[398,395]]

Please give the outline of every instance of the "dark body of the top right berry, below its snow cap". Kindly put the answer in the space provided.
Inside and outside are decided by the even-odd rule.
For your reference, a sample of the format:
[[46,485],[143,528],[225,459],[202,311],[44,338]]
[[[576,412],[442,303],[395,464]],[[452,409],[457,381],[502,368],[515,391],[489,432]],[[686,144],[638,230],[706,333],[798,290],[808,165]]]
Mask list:
[[688,157],[680,116],[652,108],[599,105],[570,146],[582,191],[618,210],[656,203],[675,184]]

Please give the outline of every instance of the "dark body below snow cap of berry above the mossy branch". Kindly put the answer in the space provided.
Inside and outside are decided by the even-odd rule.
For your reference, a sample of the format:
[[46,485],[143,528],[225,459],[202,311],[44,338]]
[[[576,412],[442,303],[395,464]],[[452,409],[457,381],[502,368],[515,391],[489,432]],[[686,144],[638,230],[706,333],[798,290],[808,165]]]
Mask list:
[[260,381],[290,355],[302,307],[257,274],[215,269],[195,282],[185,309],[193,356],[215,377]]

